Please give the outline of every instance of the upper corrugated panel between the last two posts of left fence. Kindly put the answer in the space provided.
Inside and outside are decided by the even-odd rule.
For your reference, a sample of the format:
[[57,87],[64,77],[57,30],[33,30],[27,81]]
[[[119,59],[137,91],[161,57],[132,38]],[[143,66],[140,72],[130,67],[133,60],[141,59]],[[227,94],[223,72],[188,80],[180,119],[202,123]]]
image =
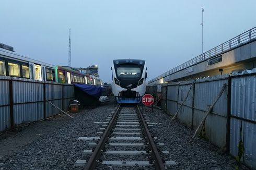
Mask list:
[[46,100],[62,99],[63,84],[45,84]]

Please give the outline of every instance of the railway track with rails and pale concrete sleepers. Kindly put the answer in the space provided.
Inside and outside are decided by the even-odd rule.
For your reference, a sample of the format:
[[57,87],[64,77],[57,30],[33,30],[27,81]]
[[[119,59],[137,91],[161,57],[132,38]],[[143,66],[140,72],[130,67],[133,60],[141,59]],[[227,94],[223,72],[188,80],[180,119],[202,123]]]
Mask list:
[[[166,169],[166,166],[176,165],[174,161],[163,160],[163,154],[169,151],[160,151],[150,135],[148,126],[159,126],[150,123],[143,115],[139,106],[121,106],[112,112],[106,122],[97,132],[101,137],[80,137],[78,140],[99,140],[92,150],[84,150],[84,154],[91,154],[88,160],[77,160],[75,165],[84,166],[84,169],[105,169],[107,167],[152,167],[152,169]],[[156,138],[155,138],[156,139]],[[157,148],[158,147],[158,148]],[[165,156],[164,156],[165,157]]]

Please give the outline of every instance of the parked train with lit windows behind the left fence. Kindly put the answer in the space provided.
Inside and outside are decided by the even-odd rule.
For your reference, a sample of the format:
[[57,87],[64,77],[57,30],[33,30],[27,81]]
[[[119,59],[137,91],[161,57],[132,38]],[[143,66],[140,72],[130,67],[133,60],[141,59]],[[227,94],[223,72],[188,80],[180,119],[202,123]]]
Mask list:
[[0,48],[0,76],[20,77],[60,83],[102,85],[98,77],[84,74],[72,67],[54,66]]

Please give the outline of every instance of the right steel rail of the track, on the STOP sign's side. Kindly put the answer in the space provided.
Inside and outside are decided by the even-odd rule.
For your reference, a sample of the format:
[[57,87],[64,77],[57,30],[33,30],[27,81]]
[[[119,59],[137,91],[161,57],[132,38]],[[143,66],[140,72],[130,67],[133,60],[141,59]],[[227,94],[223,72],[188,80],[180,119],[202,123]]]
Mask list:
[[165,165],[164,165],[164,163],[161,160],[159,152],[158,152],[158,150],[156,148],[156,145],[155,145],[155,143],[153,141],[152,136],[150,135],[150,132],[149,132],[149,130],[147,128],[146,122],[145,122],[145,120],[143,118],[142,112],[141,112],[141,110],[140,110],[138,105],[137,105],[137,109],[138,109],[138,113],[139,113],[139,118],[141,119],[143,128],[145,129],[145,132],[146,132],[146,140],[148,141],[148,146],[152,150],[152,152],[150,152],[150,154],[153,157],[153,159],[155,160],[155,162],[154,162],[155,168],[156,169],[165,169]]

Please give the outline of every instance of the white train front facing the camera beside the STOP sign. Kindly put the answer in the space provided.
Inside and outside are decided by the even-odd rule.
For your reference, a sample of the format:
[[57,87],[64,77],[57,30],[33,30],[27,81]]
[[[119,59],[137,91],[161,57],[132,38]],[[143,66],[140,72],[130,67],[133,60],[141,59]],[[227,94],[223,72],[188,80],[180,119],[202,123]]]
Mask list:
[[141,59],[115,59],[112,91],[118,103],[139,103],[146,92],[147,67]]

